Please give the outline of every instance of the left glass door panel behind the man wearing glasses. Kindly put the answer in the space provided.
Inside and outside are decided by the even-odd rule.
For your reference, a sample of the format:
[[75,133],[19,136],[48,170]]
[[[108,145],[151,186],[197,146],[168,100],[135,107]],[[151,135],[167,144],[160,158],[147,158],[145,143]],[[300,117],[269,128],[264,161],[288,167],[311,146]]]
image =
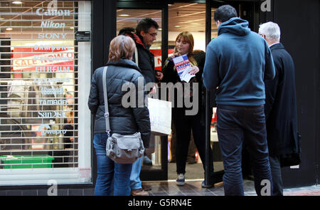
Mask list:
[[[127,31],[135,32],[137,23],[146,17],[151,18],[158,23],[159,29],[155,36],[156,40],[154,40],[149,48],[151,53],[154,54],[154,65],[156,70],[161,70],[161,61],[168,55],[165,47],[162,47],[167,46],[167,29],[164,21],[164,11],[166,11],[166,4],[162,3],[156,3],[156,5],[137,4],[126,1],[118,1],[117,3],[117,35],[123,28],[127,28]],[[144,162],[140,174],[142,181],[167,179],[167,148],[167,136],[160,137],[151,135],[149,148],[146,149],[146,153],[144,154]]]

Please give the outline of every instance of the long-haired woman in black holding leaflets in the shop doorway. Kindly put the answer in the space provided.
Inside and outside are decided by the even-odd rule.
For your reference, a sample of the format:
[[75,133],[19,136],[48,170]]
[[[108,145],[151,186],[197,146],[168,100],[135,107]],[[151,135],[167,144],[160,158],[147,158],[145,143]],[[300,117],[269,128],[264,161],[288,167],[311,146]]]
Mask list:
[[[176,46],[174,48],[174,55],[170,56],[164,65],[164,78],[162,82],[165,83],[185,83],[181,81],[176,67],[174,66],[174,62],[172,58],[177,56],[188,56],[188,61],[191,63],[191,70],[189,73],[191,75],[195,75],[195,77],[191,78],[189,83],[198,83],[198,92],[196,91],[188,91],[183,88],[183,100],[186,98],[191,98],[189,101],[193,101],[193,95],[198,94],[198,105],[199,110],[196,115],[186,115],[186,110],[191,110],[192,107],[186,107],[185,103],[183,103],[183,107],[179,107],[177,104],[177,98],[181,97],[181,91],[176,91],[174,93],[174,107],[172,108],[172,120],[174,126],[176,127],[176,172],[178,174],[178,179],[176,179],[177,185],[183,185],[185,182],[185,174],[186,174],[186,160],[188,157],[188,147],[191,139],[191,130],[193,133],[193,140],[198,149],[199,155],[201,157],[201,161],[203,162],[203,169],[205,169],[205,160],[206,160],[206,138],[205,138],[205,120],[204,113],[205,109],[203,107],[203,97],[202,97],[202,72],[203,72],[203,62],[201,59],[196,61],[196,58],[204,58],[203,51],[197,51],[195,53],[193,51],[194,41],[193,36],[188,31],[183,31],[178,34],[176,37]],[[202,54],[201,54],[202,53]],[[202,64],[201,64],[202,63]],[[199,65],[201,64],[201,65]],[[191,84],[190,87],[193,85]],[[176,85],[178,87],[178,85]],[[176,88],[175,88],[176,89]],[[170,91],[171,92],[171,91]],[[171,96],[172,98],[172,96]],[[195,103],[193,103],[195,104]],[[213,157],[212,151],[210,150],[210,177],[213,176]],[[204,185],[204,184],[203,184]]]

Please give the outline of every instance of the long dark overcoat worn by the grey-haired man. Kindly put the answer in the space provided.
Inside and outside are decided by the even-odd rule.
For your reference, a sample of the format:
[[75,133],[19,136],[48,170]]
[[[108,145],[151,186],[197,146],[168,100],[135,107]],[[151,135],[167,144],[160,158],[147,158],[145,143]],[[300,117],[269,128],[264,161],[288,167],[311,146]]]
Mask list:
[[265,117],[270,156],[298,153],[294,62],[282,43],[270,47],[276,75],[265,81]]

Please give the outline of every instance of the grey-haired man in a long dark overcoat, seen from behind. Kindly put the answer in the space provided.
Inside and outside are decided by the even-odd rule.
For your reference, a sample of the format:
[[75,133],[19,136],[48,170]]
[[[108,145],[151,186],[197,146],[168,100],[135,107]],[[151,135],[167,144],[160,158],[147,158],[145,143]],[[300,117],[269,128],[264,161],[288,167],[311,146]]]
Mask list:
[[294,62],[280,43],[280,28],[277,23],[263,23],[259,34],[267,41],[272,52],[276,75],[265,81],[265,118],[273,195],[283,195],[281,167],[292,165],[287,157],[297,157],[299,164],[299,134],[297,132],[297,104]]

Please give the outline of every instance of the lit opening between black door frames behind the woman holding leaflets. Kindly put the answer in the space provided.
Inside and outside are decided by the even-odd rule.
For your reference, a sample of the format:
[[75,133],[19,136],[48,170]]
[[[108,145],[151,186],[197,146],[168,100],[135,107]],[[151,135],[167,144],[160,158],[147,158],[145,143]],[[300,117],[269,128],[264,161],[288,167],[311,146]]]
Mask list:
[[[168,43],[169,53],[173,53],[176,46],[176,37],[183,31],[192,34],[194,40],[193,51],[206,51],[206,4],[196,2],[174,2],[168,5]],[[169,164],[168,179],[176,180],[176,130],[172,125],[172,132],[169,136]],[[188,148],[188,157],[186,162],[186,180],[203,180],[204,170],[198,149],[193,140]]]

